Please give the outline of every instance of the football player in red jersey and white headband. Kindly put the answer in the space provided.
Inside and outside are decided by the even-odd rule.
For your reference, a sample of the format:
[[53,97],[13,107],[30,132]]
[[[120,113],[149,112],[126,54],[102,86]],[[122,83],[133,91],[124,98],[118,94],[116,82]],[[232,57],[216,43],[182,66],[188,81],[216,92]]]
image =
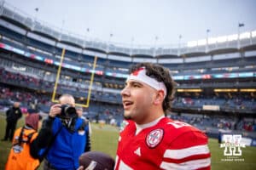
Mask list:
[[207,136],[165,115],[175,82],[161,65],[131,67],[121,91],[126,126],[119,134],[115,169],[210,169]]

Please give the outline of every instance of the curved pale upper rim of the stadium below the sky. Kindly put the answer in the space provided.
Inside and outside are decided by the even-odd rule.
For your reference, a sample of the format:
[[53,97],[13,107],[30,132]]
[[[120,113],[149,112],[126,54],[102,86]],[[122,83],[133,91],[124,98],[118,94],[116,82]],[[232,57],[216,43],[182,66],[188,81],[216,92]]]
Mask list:
[[57,47],[67,48],[77,53],[85,50],[88,54],[96,54],[102,58],[107,58],[106,54],[111,54],[111,59],[117,60],[132,57],[137,59],[135,62],[155,62],[158,59],[157,62],[159,63],[172,63],[170,59],[183,59],[194,56],[206,56],[208,59],[208,56],[212,54],[235,53],[241,50],[256,49],[256,30],[222,37],[207,37],[207,39],[177,44],[173,47],[129,47],[113,42],[89,41],[83,36],[63,32],[61,29],[33,20],[29,15],[17,13],[13,8],[9,7],[8,3],[2,3],[0,16],[4,19],[0,20],[0,26],[8,27],[21,35],[26,35],[50,45],[55,45],[56,43]]

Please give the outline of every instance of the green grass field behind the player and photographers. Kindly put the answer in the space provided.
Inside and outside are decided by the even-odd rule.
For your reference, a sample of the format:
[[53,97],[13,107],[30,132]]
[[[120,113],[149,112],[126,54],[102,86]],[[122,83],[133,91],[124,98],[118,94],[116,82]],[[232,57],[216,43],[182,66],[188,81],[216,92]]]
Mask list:
[[[20,120],[18,126],[23,124]],[[4,116],[0,115],[0,139],[3,139],[6,122]],[[105,125],[101,127],[99,124],[91,124],[92,150],[102,151],[115,157],[119,130],[117,127]],[[0,170],[4,169],[11,144],[9,142],[0,142]],[[242,155],[239,161],[224,161],[224,149],[219,148],[217,139],[209,139],[209,148],[212,154],[212,169],[229,169],[229,170],[255,170],[256,169],[256,147],[241,148]],[[40,167],[39,169],[42,169]]]

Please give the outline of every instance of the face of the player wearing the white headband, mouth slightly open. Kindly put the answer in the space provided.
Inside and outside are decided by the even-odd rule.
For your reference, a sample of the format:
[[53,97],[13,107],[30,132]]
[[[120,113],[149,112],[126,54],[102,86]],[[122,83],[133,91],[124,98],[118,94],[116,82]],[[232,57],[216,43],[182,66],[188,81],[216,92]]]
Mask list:
[[156,90],[143,82],[129,80],[121,91],[125,119],[139,124],[147,122]]

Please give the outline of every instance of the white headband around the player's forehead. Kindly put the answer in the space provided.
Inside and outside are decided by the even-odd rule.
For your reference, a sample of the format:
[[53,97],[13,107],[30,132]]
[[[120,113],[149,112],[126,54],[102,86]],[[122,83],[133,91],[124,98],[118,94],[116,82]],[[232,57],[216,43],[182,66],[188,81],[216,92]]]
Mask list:
[[137,80],[139,82],[144,82],[148,84],[151,88],[154,88],[156,90],[163,90],[164,95],[166,97],[166,85],[164,82],[158,82],[154,78],[148,77],[146,75],[146,69],[145,67],[139,68],[137,71],[134,71],[127,77],[127,80]]

